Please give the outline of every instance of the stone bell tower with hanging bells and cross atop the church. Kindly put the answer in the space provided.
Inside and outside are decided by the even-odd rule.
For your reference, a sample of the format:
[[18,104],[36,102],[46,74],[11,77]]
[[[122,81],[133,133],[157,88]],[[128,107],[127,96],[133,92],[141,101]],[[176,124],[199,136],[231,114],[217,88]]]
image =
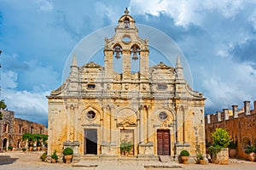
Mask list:
[[105,38],[104,62],[105,77],[113,78],[113,56],[123,59],[123,81],[131,80],[131,59],[139,59],[139,79],[148,80],[148,39],[138,37],[135,20],[129,15],[127,8],[125,14],[119,19],[119,25],[115,28],[115,35]]

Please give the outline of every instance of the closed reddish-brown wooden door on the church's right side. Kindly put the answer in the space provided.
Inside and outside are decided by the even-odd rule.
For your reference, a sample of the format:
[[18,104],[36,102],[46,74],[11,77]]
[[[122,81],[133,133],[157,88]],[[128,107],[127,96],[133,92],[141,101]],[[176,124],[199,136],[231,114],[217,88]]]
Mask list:
[[157,154],[159,156],[170,156],[170,131],[157,131]]

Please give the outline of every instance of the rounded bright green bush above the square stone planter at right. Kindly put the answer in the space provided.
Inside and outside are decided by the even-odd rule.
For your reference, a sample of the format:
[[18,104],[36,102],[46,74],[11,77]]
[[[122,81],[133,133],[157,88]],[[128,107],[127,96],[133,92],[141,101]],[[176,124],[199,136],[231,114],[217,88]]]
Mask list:
[[231,141],[232,139],[230,139],[229,133],[221,127],[216,128],[215,132],[212,133],[213,146],[218,145],[220,147],[227,148]]

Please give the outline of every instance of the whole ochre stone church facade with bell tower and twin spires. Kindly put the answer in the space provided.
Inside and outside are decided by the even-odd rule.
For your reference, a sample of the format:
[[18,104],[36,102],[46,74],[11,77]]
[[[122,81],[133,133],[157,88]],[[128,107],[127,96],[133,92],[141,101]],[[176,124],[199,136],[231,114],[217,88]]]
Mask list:
[[[126,155],[135,157],[204,154],[205,98],[185,81],[179,57],[175,68],[162,62],[148,68],[148,39],[138,36],[127,9],[103,50],[104,66],[79,67],[73,55],[66,82],[47,96],[49,155],[72,147],[74,159],[119,157],[122,144],[130,144]],[[113,59],[122,60],[122,73],[114,71]],[[131,72],[132,59],[138,72]]]

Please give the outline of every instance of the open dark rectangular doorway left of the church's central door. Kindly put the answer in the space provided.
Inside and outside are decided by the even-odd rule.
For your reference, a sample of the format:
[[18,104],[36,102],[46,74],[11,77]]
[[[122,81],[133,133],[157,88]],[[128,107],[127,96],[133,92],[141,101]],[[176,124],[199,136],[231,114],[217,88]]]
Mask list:
[[97,129],[84,129],[84,155],[97,155]]

